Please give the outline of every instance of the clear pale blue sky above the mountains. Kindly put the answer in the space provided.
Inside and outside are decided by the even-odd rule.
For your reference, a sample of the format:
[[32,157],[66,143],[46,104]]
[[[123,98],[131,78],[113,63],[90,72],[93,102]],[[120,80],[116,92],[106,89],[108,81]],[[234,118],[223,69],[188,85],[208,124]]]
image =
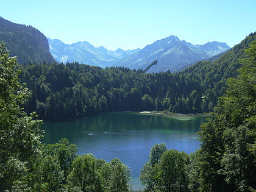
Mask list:
[[88,41],[110,50],[144,48],[169,35],[232,47],[255,32],[256,0],[10,0],[1,1],[0,16],[64,43]]

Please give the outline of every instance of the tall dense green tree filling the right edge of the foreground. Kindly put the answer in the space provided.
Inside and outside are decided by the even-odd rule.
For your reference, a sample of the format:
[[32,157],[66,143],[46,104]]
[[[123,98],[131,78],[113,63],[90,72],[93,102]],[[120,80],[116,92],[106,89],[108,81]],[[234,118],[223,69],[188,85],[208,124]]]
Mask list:
[[256,41],[241,59],[238,77],[227,82],[213,118],[201,126],[202,189],[248,191],[256,188]]

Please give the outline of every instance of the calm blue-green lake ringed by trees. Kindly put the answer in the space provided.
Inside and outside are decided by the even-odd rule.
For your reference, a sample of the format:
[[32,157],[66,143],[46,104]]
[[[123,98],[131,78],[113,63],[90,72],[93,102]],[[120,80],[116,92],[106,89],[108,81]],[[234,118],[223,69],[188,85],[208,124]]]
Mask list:
[[140,190],[140,169],[152,146],[165,143],[168,149],[190,154],[199,148],[197,131],[204,116],[162,116],[133,112],[101,113],[74,122],[44,122],[43,143],[68,138],[77,145],[78,154],[91,152],[110,162],[118,157],[132,168],[132,189]]

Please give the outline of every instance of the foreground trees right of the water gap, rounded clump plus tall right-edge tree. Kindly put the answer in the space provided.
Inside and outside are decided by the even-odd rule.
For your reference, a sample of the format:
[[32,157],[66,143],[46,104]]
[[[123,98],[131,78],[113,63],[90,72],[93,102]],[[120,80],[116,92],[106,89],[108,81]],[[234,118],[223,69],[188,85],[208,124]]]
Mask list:
[[256,41],[246,52],[201,126],[201,148],[188,155],[152,147],[140,176],[146,191],[256,191]]

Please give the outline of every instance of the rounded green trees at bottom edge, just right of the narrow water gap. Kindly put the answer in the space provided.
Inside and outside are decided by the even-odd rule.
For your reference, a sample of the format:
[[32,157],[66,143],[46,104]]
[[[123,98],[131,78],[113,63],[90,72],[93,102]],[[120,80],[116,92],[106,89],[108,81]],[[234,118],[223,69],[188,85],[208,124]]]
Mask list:
[[188,191],[185,152],[168,150],[165,144],[151,148],[148,162],[141,169],[140,180],[146,191]]

